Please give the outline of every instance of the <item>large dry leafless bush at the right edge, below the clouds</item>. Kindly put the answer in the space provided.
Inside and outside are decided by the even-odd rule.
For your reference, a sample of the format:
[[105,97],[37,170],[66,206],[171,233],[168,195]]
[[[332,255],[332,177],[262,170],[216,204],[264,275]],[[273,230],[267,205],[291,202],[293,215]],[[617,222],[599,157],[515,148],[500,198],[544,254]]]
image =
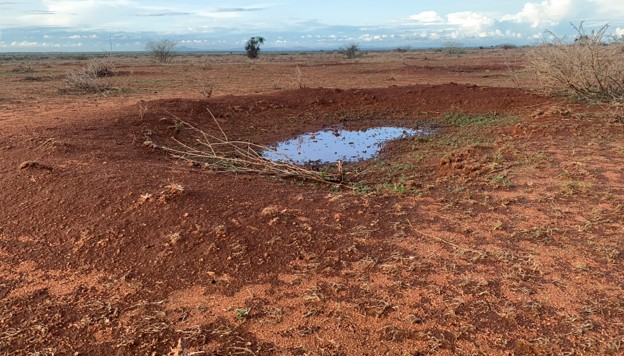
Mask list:
[[529,68],[549,92],[564,92],[583,100],[624,100],[624,43],[608,39],[608,25],[586,33],[572,24],[577,36],[552,40],[529,54]]

